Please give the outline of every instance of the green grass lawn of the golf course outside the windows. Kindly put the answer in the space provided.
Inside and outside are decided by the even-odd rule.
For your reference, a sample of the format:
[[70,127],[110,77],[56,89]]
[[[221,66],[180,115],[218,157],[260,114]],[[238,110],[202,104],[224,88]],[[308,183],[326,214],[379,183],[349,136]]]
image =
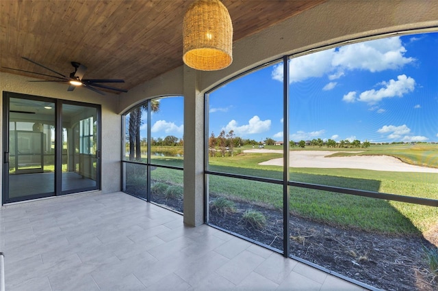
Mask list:
[[[252,148],[248,146],[247,148]],[[279,146],[268,146],[280,150]],[[241,148],[240,150],[244,150]],[[292,150],[298,150],[294,148]],[[332,150],[339,148],[307,148],[304,150]],[[361,153],[352,151],[363,150]],[[388,145],[372,146],[369,149],[347,149],[342,154],[386,154],[396,156],[413,165],[437,166],[438,145]],[[263,178],[283,178],[283,168],[279,166],[261,166],[258,163],[272,158],[281,158],[282,154],[238,154],[233,157],[209,158],[209,169],[224,173],[242,174]],[[181,165],[181,158],[159,158],[160,164]],[[168,171],[157,168],[153,171],[154,180],[183,181],[182,171]],[[378,191],[438,199],[438,174],[372,171],[365,169],[318,169],[290,168],[290,180],[329,186],[341,186],[352,189]],[[209,176],[209,191],[230,199],[264,204],[273,208],[282,208],[282,186],[264,182],[255,182],[221,176]],[[353,227],[370,232],[387,234],[420,234],[427,232],[438,223],[438,208],[420,206],[403,202],[391,202],[331,193],[312,189],[291,187],[289,207],[294,215],[315,221],[323,221],[338,227]]]

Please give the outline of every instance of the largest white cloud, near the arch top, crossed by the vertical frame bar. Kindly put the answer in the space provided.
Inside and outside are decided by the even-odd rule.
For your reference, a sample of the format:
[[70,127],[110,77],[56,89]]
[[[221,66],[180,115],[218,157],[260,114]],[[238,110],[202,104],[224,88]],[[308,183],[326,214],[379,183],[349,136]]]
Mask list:
[[[360,42],[311,53],[290,60],[289,83],[304,81],[311,77],[328,75],[330,80],[339,79],[348,70],[381,72],[396,70],[415,59],[404,57],[406,53],[400,37],[383,38]],[[283,81],[283,64],[274,66],[272,79]]]

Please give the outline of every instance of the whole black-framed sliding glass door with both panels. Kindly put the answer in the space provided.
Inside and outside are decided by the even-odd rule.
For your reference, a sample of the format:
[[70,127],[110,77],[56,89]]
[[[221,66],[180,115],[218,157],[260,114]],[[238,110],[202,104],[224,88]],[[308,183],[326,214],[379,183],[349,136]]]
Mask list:
[[3,203],[100,188],[99,105],[3,92]]

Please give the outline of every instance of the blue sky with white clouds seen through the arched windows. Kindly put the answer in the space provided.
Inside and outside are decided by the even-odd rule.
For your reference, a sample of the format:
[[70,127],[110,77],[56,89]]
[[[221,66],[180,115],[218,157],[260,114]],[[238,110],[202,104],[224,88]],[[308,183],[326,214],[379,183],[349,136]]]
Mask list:
[[[438,141],[437,52],[438,33],[425,33],[291,59],[289,139]],[[283,140],[282,82],[279,63],[211,92],[209,135]],[[182,137],[182,106],[162,100],[153,137]]]

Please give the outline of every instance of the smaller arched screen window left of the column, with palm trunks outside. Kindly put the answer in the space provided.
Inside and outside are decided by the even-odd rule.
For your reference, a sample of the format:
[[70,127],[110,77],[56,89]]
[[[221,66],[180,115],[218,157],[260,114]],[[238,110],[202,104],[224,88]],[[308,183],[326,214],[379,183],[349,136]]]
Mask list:
[[123,191],[183,212],[183,97],[144,102],[125,116]]

